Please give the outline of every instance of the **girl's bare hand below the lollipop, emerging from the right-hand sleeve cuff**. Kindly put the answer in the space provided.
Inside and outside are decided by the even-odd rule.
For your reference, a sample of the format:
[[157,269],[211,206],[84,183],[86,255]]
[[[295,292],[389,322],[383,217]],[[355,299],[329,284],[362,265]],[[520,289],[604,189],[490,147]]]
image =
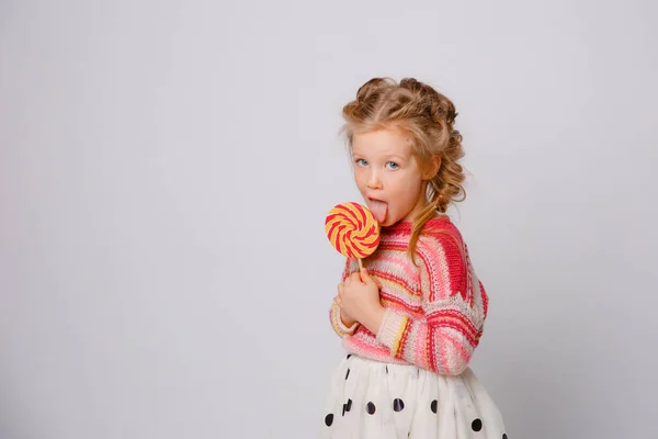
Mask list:
[[379,302],[379,288],[364,268],[360,272],[350,274],[338,285],[338,296],[334,299],[342,316],[359,322],[375,335],[385,311]]

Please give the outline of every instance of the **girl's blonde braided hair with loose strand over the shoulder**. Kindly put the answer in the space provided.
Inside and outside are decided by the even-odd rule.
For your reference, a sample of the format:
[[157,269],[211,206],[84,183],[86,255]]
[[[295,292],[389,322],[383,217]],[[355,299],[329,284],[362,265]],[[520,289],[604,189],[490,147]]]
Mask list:
[[453,202],[464,201],[464,169],[458,160],[464,157],[462,135],[453,125],[455,105],[432,87],[413,78],[399,83],[390,78],[373,78],[356,92],[356,99],[342,109],[350,153],[354,134],[377,130],[399,128],[411,135],[413,154],[426,169],[432,158],[441,157],[438,172],[428,181],[428,204],[413,218],[409,255],[413,254],[426,223],[444,214]]

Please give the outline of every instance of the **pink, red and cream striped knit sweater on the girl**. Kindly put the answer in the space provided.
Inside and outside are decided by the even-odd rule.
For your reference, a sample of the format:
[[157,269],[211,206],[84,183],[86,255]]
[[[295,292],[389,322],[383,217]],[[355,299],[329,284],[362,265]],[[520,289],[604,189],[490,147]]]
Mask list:
[[[462,235],[447,216],[428,221],[415,266],[407,250],[411,223],[383,227],[377,250],[363,260],[382,289],[386,308],[377,334],[358,323],[348,328],[332,304],[330,319],[351,353],[390,363],[416,364],[443,375],[468,365],[487,316],[487,294],[477,279]],[[343,281],[359,270],[348,259]]]

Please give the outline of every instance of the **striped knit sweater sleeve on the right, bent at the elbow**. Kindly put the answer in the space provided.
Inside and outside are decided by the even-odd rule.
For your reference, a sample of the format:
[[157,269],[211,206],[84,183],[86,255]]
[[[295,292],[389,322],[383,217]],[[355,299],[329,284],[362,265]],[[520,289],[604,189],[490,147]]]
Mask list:
[[417,251],[423,315],[386,308],[377,340],[396,358],[457,375],[468,367],[483,334],[487,295],[461,238],[434,234],[423,244]]

